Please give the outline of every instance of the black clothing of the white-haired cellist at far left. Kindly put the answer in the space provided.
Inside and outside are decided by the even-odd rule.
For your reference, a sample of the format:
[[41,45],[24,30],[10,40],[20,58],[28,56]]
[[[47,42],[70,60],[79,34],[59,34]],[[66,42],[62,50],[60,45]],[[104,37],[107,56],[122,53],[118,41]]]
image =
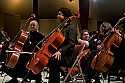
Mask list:
[[[35,46],[37,45],[37,43],[41,41],[43,38],[44,36],[40,34],[39,32],[36,32],[36,31],[30,32],[29,37],[26,40],[22,51],[23,52],[36,52],[37,49],[35,49],[34,51],[34,48],[36,48]],[[13,69],[7,69],[6,66],[3,65],[3,68],[4,68],[3,70],[14,79],[18,77],[23,78],[25,75],[28,74],[28,69],[26,69],[26,64],[28,63],[28,61],[30,60],[32,56],[33,55],[30,55],[30,54],[20,54],[19,60]],[[33,75],[33,73],[30,75]],[[30,75],[28,76],[30,77]],[[41,79],[41,75],[34,75],[34,78]]]

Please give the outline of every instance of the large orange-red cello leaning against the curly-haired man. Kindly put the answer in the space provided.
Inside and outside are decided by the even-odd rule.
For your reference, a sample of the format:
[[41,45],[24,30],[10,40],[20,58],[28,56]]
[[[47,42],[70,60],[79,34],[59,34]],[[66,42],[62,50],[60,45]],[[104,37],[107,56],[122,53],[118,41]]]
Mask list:
[[[48,34],[42,41],[42,47],[35,53],[35,55],[29,60],[26,68],[31,70],[34,74],[39,73],[47,65],[49,58],[52,54],[56,52],[58,47],[65,40],[65,36],[62,34],[61,30],[63,29],[64,23],[74,18],[77,18],[79,15],[73,15],[66,20],[64,20],[57,28],[55,28],[50,34]],[[38,44],[39,44],[38,43]]]

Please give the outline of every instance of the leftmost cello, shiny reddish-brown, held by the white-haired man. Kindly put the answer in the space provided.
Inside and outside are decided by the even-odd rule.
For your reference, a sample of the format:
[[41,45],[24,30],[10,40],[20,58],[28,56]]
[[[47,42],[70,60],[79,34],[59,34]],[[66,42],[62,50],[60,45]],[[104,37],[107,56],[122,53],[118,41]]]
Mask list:
[[[34,14],[31,14],[31,17],[27,20],[27,22],[25,23],[25,25],[23,27],[26,26],[26,24],[31,20],[35,18]],[[18,59],[20,57],[20,52],[22,51],[23,46],[25,45],[25,42],[29,36],[29,32],[28,31],[23,31],[23,27],[21,28],[21,30],[17,33],[17,35],[15,36],[15,38],[13,39],[12,43],[14,42],[14,40],[16,39],[16,37],[20,34],[20,37],[18,39],[18,41],[16,42],[16,44],[14,45],[14,47],[12,48],[14,50],[14,52],[7,54],[6,57],[6,62],[5,65],[9,68],[14,68],[15,65],[18,62]],[[7,51],[7,52],[11,52],[11,51]]]

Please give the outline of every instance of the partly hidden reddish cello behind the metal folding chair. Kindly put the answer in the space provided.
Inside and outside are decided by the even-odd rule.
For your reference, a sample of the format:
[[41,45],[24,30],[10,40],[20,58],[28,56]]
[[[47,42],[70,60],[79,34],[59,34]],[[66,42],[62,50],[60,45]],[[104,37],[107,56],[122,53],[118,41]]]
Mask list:
[[[96,36],[97,34],[94,34],[92,35],[88,42],[94,37]],[[81,40],[83,41],[83,40]],[[75,45],[75,51],[76,51],[76,54],[77,54],[77,59],[75,60],[73,66],[71,68],[67,68],[67,67],[61,67],[62,70],[64,72],[66,72],[67,70],[69,71],[69,73],[71,73],[72,76],[78,74],[79,72],[82,73],[82,70],[81,70],[81,67],[80,67],[80,64],[83,62],[81,59],[84,57],[85,60],[87,60],[87,58],[90,56],[91,54],[91,50],[89,48],[87,49],[84,49],[86,47],[86,45],[84,43],[82,44],[76,44]]]

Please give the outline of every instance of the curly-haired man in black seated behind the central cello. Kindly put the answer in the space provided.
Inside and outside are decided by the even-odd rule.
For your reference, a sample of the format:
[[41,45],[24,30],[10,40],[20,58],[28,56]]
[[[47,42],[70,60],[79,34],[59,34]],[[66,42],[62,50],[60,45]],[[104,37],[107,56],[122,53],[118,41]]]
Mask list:
[[[60,23],[72,16],[71,10],[65,7],[61,7],[58,10],[57,18]],[[65,40],[49,59],[49,83],[60,83],[60,67],[71,67],[76,59],[76,53],[74,46],[77,43],[77,30],[70,20],[64,23],[62,33],[65,36]]]

